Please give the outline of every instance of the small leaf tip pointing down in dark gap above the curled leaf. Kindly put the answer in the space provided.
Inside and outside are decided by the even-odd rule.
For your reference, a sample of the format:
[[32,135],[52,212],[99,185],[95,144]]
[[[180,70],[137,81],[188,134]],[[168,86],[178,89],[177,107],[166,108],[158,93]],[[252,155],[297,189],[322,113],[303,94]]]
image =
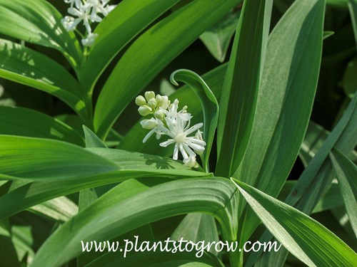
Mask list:
[[216,23],[207,31],[201,34],[200,39],[211,52],[217,61],[223,62],[226,58],[229,43],[236,31],[238,19],[241,15],[240,11],[228,13],[221,21]]

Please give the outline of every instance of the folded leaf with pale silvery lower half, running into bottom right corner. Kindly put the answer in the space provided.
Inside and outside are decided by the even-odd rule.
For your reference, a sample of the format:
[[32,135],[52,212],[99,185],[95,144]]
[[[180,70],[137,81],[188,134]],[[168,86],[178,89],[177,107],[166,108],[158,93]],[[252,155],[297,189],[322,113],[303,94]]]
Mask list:
[[357,254],[341,239],[301,211],[232,179],[266,228],[308,266],[353,266]]

